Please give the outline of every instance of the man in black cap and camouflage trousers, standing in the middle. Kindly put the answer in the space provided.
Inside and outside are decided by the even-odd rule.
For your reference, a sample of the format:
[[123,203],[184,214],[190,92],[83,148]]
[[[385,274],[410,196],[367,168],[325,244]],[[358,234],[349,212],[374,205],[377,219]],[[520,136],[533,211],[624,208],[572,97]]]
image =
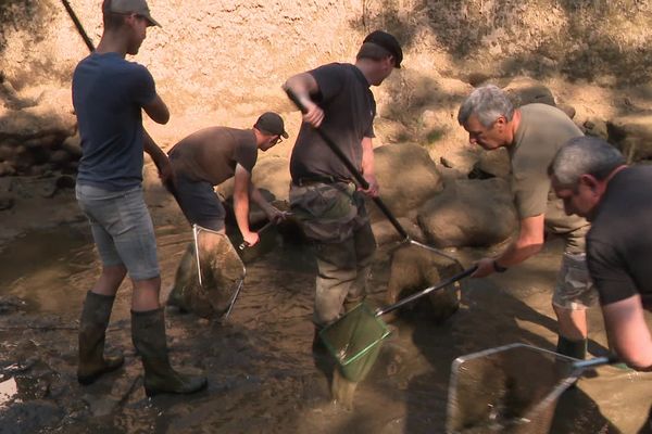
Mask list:
[[[321,348],[318,331],[365,295],[376,241],[361,193],[378,195],[372,144],[376,102],[369,87],[383,84],[402,60],[397,39],[376,30],[364,39],[354,65],[327,64],[284,85],[306,108],[290,159],[290,205],[317,258],[313,350]],[[367,190],[356,188],[315,128],[359,168]]]

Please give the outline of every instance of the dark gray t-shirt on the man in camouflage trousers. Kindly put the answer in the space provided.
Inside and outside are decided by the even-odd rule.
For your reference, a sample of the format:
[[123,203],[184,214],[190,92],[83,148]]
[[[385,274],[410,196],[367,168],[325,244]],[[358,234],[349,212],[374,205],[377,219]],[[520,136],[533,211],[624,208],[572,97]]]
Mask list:
[[[362,167],[362,139],[374,136],[376,101],[362,72],[351,64],[331,63],[309,72],[319,87],[315,102],[324,110],[319,127],[359,169]],[[347,167],[317,131],[301,125],[290,158],[292,180],[333,176],[353,179]]]

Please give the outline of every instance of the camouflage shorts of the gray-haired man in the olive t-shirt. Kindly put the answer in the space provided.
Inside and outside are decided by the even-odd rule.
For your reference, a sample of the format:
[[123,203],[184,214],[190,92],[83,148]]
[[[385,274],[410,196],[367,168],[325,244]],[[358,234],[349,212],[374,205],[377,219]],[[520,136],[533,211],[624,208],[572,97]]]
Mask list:
[[584,310],[598,303],[584,253],[564,253],[552,304],[563,309]]

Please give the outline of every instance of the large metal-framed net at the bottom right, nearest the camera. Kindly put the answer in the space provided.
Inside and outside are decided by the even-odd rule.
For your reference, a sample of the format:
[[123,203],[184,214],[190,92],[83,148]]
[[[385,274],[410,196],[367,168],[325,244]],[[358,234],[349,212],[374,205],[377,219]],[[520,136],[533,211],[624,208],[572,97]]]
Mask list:
[[526,344],[459,357],[449,384],[447,433],[548,433],[556,403],[584,370],[580,361]]

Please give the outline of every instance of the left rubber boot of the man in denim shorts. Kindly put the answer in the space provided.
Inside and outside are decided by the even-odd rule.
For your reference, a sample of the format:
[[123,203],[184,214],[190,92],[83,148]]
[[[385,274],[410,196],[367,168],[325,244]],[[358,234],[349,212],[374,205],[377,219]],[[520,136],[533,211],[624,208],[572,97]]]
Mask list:
[[91,384],[100,375],[123,366],[122,355],[104,357],[104,339],[114,296],[88,292],[79,320],[79,363],[77,381]]

